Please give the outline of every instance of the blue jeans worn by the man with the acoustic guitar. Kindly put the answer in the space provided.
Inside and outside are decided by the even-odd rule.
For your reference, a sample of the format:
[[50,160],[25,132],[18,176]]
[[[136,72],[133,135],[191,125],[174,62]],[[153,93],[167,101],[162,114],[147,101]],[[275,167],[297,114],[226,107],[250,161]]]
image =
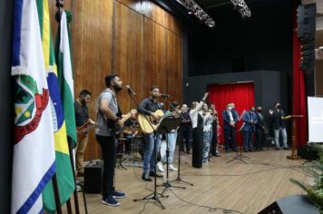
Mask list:
[[162,134],[154,136],[154,133],[149,133],[145,134],[144,138],[146,146],[143,154],[143,174],[149,176],[149,172],[155,171],[156,168],[156,159],[161,148]]

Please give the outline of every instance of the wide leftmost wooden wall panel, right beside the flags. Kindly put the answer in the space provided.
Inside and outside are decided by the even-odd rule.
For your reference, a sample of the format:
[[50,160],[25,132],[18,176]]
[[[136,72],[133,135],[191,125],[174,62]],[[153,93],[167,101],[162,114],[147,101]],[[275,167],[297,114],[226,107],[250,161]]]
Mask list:
[[[92,92],[88,107],[95,120],[96,98],[105,88],[104,76],[112,73],[113,0],[74,1],[72,37],[74,96],[82,89]],[[100,157],[100,146],[91,131],[84,159]]]

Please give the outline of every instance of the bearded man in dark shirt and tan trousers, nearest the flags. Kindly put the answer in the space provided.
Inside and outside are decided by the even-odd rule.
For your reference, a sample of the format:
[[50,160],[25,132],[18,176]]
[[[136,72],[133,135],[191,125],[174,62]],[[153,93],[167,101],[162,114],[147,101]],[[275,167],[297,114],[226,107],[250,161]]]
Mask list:
[[[87,103],[91,101],[91,92],[87,91],[86,89],[83,89],[80,92],[79,98],[77,98],[74,102],[74,110],[75,110],[75,122],[76,127],[84,127],[84,129],[87,127],[87,124],[95,124],[93,120],[89,118],[89,111],[87,108]],[[83,176],[83,157],[84,152],[86,149],[88,141],[88,135],[87,132],[83,136],[83,138],[78,139],[78,143],[76,146],[76,170],[77,174],[76,176],[82,177]]]

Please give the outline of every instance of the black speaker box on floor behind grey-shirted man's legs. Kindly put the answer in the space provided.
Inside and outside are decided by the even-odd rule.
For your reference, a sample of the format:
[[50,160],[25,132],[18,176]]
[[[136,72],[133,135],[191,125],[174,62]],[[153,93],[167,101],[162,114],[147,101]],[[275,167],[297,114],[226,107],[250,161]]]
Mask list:
[[96,161],[84,167],[85,193],[101,193],[101,175],[103,161]]

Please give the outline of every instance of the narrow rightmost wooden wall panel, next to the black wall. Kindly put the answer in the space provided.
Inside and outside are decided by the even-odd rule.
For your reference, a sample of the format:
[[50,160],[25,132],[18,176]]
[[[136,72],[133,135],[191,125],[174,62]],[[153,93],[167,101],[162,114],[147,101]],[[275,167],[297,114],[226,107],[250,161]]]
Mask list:
[[167,31],[167,93],[171,95],[170,101],[181,102],[181,37]]

